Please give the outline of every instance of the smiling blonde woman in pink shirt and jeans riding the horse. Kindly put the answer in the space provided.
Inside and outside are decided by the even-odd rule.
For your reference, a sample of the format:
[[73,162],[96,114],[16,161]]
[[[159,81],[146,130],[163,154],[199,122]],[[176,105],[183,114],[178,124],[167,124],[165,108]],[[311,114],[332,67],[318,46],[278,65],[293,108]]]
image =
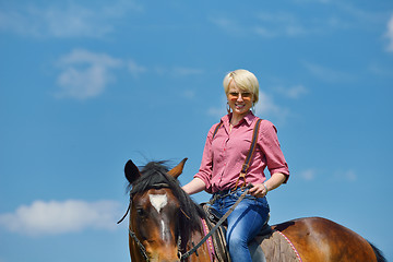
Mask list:
[[[202,190],[213,193],[212,207],[224,215],[245,191],[241,184],[252,183],[249,194],[228,216],[226,236],[231,261],[251,261],[248,242],[260,231],[270,212],[265,195],[286,182],[289,170],[275,127],[262,120],[247,174],[239,177],[258,120],[251,108],[258,103],[259,83],[253,73],[236,70],[224,78],[224,90],[228,115],[209,131],[200,170],[183,190],[189,194]],[[271,174],[267,180],[265,167]]]

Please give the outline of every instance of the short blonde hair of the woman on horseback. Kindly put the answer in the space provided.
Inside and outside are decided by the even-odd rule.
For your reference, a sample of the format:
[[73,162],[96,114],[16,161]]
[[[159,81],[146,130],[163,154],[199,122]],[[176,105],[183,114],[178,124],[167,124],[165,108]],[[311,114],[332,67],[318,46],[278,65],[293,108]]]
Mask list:
[[257,76],[248,70],[238,69],[227,73],[224,78],[223,85],[225,94],[229,93],[229,84],[234,81],[235,84],[241,90],[252,94],[253,104],[259,100],[259,83]]

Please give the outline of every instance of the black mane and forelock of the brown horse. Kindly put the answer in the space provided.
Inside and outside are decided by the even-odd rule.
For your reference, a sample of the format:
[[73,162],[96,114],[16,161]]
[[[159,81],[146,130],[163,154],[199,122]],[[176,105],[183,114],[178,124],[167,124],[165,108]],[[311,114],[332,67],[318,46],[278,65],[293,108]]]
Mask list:
[[[166,162],[151,162],[141,170],[141,177],[132,184],[129,184],[130,193],[138,194],[151,188],[157,188],[166,184],[179,200],[181,212],[179,213],[179,229],[191,236],[192,231],[201,231],[201,217],[205,216],[204,211],[192,201],[188,193],[186,193],[179,181],[167,175],[168,167]],[[132,187],[132,188],[131,188]]]

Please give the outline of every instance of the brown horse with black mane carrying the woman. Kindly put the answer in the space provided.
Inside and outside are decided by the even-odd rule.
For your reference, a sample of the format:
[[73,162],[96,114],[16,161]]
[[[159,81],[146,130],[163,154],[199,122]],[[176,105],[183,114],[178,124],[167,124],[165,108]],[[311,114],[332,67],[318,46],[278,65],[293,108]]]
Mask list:
[[[217,261],[212,258],[207,241],[201,242],[206,213],[178,181],[186,160],[170,170],[165,162],[151,162],[141,171],[132,160],[127,162],[124,175],[129,181],[130,204],[122,219],[130,213],[132,262]],[[296,248],[298,261],[386,261],[382,252],[361,236],[323,217],[293,219],[271,228],[285,235]],[[262,241],[258,237],[255,240]]]

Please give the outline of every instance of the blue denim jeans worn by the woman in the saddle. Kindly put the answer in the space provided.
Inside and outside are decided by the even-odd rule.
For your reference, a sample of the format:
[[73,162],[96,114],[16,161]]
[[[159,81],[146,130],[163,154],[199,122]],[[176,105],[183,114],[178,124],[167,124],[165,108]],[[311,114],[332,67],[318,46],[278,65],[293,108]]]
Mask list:
[[[218,192],[212,199],[212,204],[222,216],[235,204],[243,193],[242,189],[235,191]],[[267,219],[270,207],[266,198],[257,199],[251,194],[236,206],[228,216],[228,229],[226,235],[227,248],[234,262],[251,262],[248,243],[252,240]]]

